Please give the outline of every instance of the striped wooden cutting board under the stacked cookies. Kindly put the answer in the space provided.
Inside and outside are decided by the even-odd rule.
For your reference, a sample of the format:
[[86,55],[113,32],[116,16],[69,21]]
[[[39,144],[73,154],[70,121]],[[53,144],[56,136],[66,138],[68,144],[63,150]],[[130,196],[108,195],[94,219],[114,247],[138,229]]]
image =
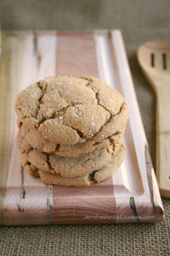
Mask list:
[[[160,222],[163,206],[119,30],[3,32],[1,85],[1,225]],[[127,156],[112,177],[88,187],[43,184],[21,167],[15,99],[49,75],[100,77],[124,95],[130,117]]]

